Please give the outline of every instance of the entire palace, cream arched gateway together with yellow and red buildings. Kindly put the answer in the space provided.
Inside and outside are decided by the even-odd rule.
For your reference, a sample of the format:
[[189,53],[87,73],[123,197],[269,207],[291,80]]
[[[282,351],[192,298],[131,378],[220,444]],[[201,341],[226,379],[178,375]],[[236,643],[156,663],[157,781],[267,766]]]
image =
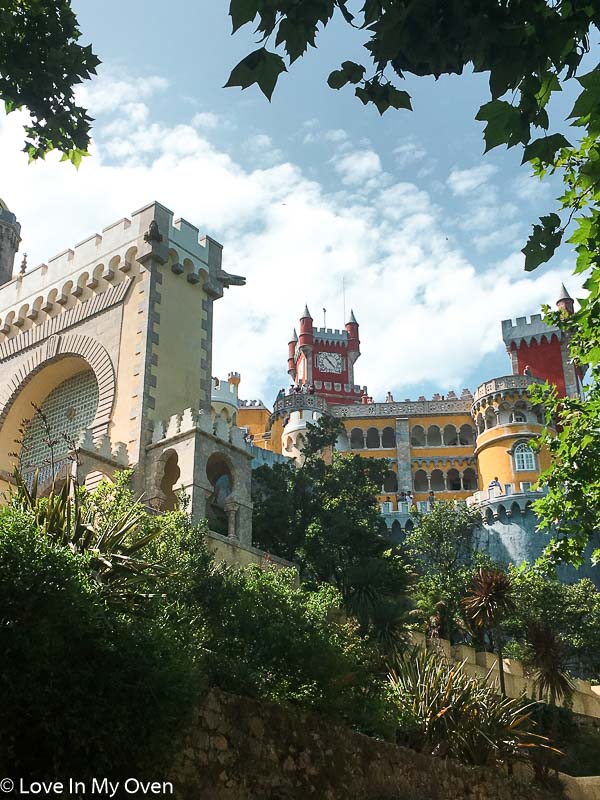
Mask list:
[[[381,511],[393,541],[438,499],[480,506],[480,546],[500,561],[534,560],[531,503],[548,455],[529,387],[549,380],[581,393],[568,340],[541,316],[502,323],[511,369],[474,393],[376,402],[355,383],[359,324],[317,328],[308,308],[288,342],[289,391],[273,408],[240,400],[240,375],[212,377],[213,304],[243,278],[222,268],[222,247],[151,203],[13,276],[20,225],[0,201],[0,490],[18,466],[48,491],[69,471],[95,487],[134,470],[136,489],[159,510],[177,492],[208,519],[214,549],[261,562],[252,545],[251,471],[302,458],[306,427],[342,420],[342,452],[385,458]],[[572,313],[562,287],[557,306]]]

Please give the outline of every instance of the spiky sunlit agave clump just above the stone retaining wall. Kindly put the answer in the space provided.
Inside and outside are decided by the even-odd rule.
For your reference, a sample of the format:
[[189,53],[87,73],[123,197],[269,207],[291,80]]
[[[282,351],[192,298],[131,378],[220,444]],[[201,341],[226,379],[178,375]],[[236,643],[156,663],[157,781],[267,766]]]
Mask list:
[[499,698],[497,687],[436,651],[405,653],[390,675],[390,689],[400,719],[408,721],[408,743],[424,752],[486,766],[527,760],[532,748],[550,749],[533,730],[536,703]]

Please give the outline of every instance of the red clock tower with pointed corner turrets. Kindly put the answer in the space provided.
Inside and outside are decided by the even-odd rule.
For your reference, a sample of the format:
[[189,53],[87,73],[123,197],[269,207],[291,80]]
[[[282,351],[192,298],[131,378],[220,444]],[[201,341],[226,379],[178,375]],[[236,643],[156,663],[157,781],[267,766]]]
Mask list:
[[354,313],[344,330],[315,328],[308,307],[288,343],[288,374],[295,384],[314,387],[329,403],[360,403],[365,386],[354,384],[354,362],[360,355],[358,322]]

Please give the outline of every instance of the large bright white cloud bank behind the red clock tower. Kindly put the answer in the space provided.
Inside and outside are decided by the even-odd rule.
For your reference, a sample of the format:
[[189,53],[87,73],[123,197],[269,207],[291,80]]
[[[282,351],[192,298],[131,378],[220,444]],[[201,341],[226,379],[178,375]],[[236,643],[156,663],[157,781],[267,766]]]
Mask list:
[[[106,82],[97,90],[97,106],[100,98],[115,108],[103,99],[115,94],[127,96],[118,115],[123,103],[141,102],[116,81],[114,92]],[[243,397],[271,402],[285,385],[286,343],[305,302],[316,317],[326,307],[328,325],[343,325],[342,277],[346,310],[361,324],[357,382],[376,397],[391,389],[403,398],[423,382],[439,391],[469,385],[482,356],[501,347],[500,320],[535,312],[568,276],[565,267],[525,277],[515,258],[510,269],[476,270],[453,245],[455,223],[435,197],[383,173],[371,149],[336,157],[348,188],[332,193],[289,161],[243,166],[207,140],[206,128],[160,123],[141,108],[128,119],[117,130],[114,115],[100,116],[93,157],[77,172],[53,156],[28,166],[23,115],[0,116],[0,174],[22,224],[21,250],[31,265],[47,260],[154,199],[222,241],[225,269],[245,275],[247,286],[215,305],[214,372],[242,372]],[[259,154],[277,151],[264,135],[248,142]],[[356,191],[365,183],[368,200]],[[498,228],[489,222],[484,236]]]

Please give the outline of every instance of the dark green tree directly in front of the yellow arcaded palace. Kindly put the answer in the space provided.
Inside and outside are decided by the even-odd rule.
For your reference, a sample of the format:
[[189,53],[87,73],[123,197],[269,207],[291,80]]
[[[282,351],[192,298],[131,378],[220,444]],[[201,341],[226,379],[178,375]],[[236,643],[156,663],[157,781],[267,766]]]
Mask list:
[[335,452],[340,432],[324,417],[308,427],[301,466],[254,471],[254,540],[298,564],[305,582],[335,586],[363,632],[377,621],[374,635],[393,638],[407,575],[376,502],[388,464]]

